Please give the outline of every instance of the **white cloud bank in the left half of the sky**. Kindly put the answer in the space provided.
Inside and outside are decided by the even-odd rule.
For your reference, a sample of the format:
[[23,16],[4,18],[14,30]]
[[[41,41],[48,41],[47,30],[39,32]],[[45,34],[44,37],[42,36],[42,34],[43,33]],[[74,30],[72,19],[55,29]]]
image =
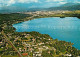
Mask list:
[[0,6],[10,6],[15,3],[37,3],[38,0],[0,0]]

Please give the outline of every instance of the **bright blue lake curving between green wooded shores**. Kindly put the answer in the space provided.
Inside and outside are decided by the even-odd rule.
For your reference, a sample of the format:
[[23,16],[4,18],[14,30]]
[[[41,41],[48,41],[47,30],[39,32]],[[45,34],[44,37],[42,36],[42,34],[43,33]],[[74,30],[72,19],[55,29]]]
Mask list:
[[48,34],[53,39],[74,43],[74,47],[80,49],[80,19],[77,17],[66,18],[38,18],[18,24],[14,24],[17,32],[37,31]]

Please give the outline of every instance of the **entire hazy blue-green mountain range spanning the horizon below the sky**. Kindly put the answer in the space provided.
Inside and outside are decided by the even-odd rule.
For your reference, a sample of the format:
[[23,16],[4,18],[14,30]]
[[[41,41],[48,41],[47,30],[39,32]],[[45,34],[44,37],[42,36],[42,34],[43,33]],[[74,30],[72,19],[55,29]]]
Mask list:
[[3,7],[2,10],[0,10],[0,13],[13,13],[13,12],[27,12],[27,11],[41,11],[41,10],[80,10],[80,3],[66,3],[63,5],[60,5],[58,7],[35,7],[34,4],[31,4],[32,7],[28,7],[26,4],[23,7],[24,4],[19,6],[17,4],[17,7],[12,5],[13,7]]

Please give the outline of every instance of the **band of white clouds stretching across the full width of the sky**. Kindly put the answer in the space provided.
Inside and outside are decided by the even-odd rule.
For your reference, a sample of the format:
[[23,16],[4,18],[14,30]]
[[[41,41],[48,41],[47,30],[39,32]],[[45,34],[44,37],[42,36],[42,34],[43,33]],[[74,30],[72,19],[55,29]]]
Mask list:
[[[26,3],[26,4],[29,4],[29,3],[42,3],[44,5],[47,4],[47,6],[50,5],[59,5],[59,4],[65,4],[67,2],[76,2],[76,3],[80,3],[79,0],[0,0],[0,7],[4,7],[4,6],[10,6],[12,4],[17,4],[17,3]],[[44,6],[43,5],[43,6]],[[36,6],[32,6],[32,7],[36,7]]]

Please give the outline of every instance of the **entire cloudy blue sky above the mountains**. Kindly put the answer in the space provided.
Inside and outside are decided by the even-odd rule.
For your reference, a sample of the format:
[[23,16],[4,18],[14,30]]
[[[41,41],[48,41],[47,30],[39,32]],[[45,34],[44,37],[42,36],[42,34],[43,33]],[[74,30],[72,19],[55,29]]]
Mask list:
[[65,3],[80,3],[80,0],[0,0],[0,9],[4,7],[54,7]]

